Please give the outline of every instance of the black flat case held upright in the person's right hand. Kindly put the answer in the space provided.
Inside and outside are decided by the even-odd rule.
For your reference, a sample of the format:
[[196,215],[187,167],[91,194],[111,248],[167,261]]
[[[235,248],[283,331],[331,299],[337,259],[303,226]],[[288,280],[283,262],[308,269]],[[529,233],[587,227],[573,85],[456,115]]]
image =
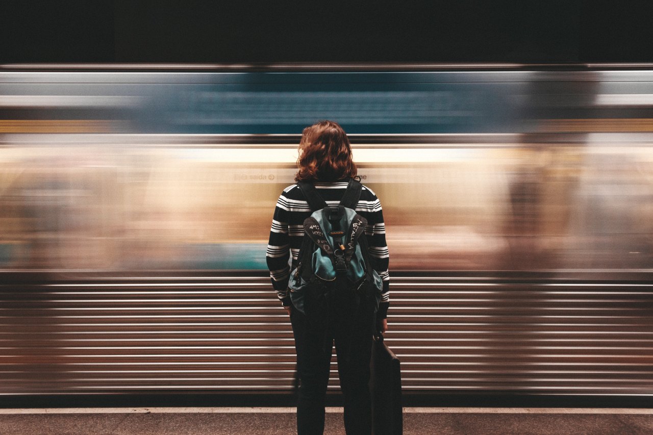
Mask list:
[[370,361],[372,391],[372,434],[402,435],[402,374],[399,359],[383,342],[374,337]]

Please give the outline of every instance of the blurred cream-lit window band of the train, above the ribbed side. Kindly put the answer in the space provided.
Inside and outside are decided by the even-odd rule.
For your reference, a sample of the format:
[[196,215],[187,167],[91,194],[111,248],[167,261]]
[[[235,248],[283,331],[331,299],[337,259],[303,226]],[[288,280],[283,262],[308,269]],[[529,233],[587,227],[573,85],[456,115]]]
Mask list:
[[[264,268],[295,146],[100,137],[48,145],[47,135],[24,135],[19,145],[8,135],[3,268]],[[352,135],[359,174],[383,204],[393,268],[650,268],[653,135],[506,138],[432,135],[430,145],[375,148]]]

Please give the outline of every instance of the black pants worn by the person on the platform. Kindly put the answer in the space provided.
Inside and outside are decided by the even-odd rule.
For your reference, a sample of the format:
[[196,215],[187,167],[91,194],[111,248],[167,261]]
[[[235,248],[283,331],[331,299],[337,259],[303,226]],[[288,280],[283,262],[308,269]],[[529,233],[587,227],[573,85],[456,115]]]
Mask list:
[[333,342],[345,399],[345,431],[347,435],[369,435],[372,431],[368,383],[375,305],[369,300],[353,304],[344,292],[336,293],[335,298],[326,323],[311,321],[311,317],[294,308],[291,314],[300,379],[298,435],[322,435],[324,432]]

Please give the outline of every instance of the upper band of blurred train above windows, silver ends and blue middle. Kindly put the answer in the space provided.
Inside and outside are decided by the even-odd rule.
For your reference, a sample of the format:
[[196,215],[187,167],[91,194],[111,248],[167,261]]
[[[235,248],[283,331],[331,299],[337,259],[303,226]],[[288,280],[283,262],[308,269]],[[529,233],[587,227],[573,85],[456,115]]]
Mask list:
[[650,81],[650,71],[0,72],[0,96],[7,120],[29,121],[10,127],[18,133],[298,134],[321,119],[362,135],[541,133],[646,105],[629,95],[649,95]]

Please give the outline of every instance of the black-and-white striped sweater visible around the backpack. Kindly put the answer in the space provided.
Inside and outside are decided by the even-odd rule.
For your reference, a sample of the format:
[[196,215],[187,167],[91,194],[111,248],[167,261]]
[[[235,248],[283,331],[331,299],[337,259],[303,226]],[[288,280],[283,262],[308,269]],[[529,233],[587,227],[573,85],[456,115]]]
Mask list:
[[[317,193],[328,205],[338,204],[346,188],[346,181],[315,183]],[[379,317],[385,319],[390,304],[389,255],[385,242],[385,223],[383,223],[381,202],[369,187],[362,187],[356,212],[368,221],[365,235],[370,246],[370,263],[383,279]],[[286,305],[290,303],[287,289],[291,266],[288,260],[292,254],[292,267],[295,268],[299,248],[302,246],[302,238],[304,237],[304,219],[311,216],[311,213],[302,191],[296,184],[283,189],[274,209],[274,217],[272,217],[272,229],[270,229],[270,242],[268,242],[266,260],[270,269],[272,286],[276,290],[279,299]]]

